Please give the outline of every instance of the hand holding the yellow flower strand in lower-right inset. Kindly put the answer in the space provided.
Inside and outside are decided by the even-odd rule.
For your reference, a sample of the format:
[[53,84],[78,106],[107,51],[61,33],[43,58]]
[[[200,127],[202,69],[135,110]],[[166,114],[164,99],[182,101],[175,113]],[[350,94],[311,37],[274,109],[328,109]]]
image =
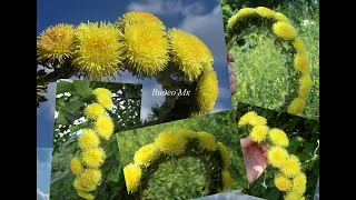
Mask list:
[[240,140],[245,168],[249,183],[255,182],[268,166],[267,144],[261,146],[251,141],[250,138]]

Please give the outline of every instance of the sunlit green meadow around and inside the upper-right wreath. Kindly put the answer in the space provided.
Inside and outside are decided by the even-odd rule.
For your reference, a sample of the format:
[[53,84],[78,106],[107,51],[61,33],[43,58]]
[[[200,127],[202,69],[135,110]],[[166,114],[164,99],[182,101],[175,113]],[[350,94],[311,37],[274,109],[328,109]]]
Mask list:
[[[296,28],[305,43],[310,63],[313,87],[300,116],[319,118],[319,6],[316,0],[221,0],[224,26],[239,9],[267,7],[284,13]],[[237,102],[275,109],[286,94],[285,56],[268,37],[270,28],[250,27],[244,42],[235,46],[230,53],[235,58],[238,90],[233,97]]]

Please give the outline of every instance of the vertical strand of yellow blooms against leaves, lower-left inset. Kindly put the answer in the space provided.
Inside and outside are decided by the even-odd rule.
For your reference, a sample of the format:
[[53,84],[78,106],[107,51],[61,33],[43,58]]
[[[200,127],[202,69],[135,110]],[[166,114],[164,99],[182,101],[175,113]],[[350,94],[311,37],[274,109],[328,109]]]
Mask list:
[[[108,89],[97,88],[92,94],[97,100],[107,98],[111,102],[112,94]],[[91,192],[97,189],[102,179],[100,167],[105,162],[106,154],[105,150],[100,148],[100,138],[108,140],[113,132],[113,123],[106,114],[106,109],[108,108],[102,102],[87,106],[85,117],[95,120],[93,128],[87,128],[81,132],[78,139],[81,153],[70,161],[70,169],[76,176],[73,188],[79,197],[88,200],[95,199]]]

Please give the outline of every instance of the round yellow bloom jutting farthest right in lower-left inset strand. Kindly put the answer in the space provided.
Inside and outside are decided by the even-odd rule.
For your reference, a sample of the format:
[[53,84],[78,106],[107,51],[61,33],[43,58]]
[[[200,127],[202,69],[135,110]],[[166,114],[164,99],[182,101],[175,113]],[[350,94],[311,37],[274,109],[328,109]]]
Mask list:
[[113,122],[109,116],[100,116],[93,124],[95,130],[99,137],[109,140],[113,133]]

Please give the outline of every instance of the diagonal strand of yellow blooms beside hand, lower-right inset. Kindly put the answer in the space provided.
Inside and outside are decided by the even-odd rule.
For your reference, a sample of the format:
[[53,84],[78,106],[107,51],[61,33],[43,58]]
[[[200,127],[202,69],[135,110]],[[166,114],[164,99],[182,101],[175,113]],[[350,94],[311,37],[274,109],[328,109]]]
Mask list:
[[259,117],[255,111],[245,113],[238,121],[238,127],[250,128],[249,137],[258,143],[268,143],[267,151],[268,163],[277,168],[275,176],[275,186],[278,190],[286,192],[284,199],[301,199],[306,190],[307,178],[301,172],[299,158],[289,154],[286,148],[289,146],[287,134],[277,128],[269,128],[267,120],[260,120],[265,123],[253,124],[251,121]]

